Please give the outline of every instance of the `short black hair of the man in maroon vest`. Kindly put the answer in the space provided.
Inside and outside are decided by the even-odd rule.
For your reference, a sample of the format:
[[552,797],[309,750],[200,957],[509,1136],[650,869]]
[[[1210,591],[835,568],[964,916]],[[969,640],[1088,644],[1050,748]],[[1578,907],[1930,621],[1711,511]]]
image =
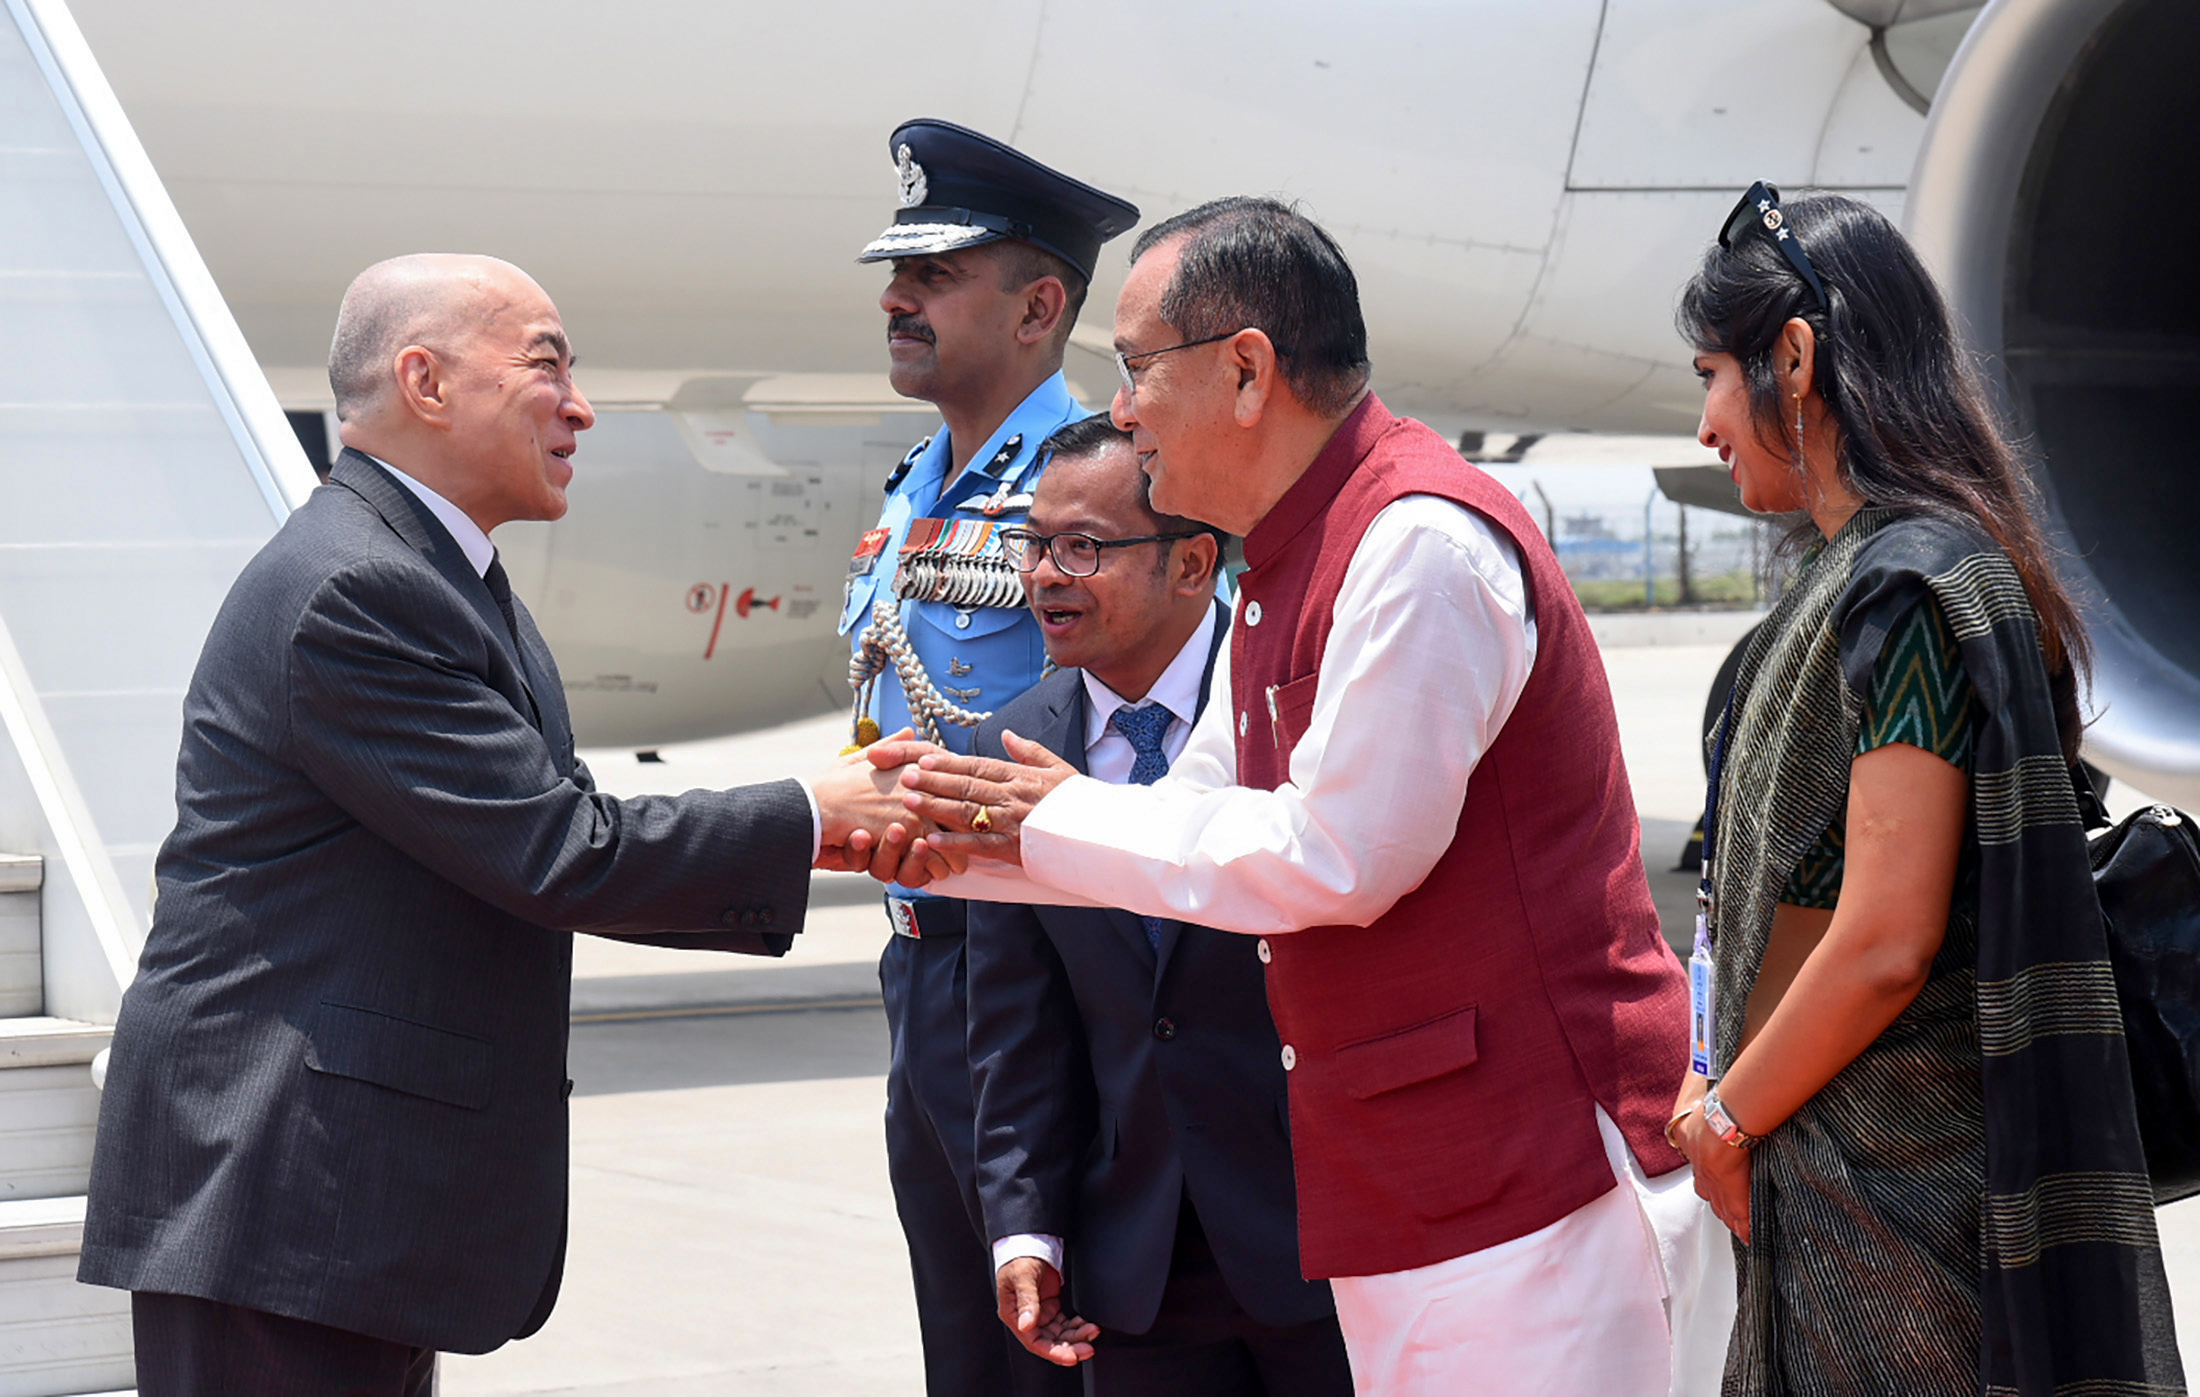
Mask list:
[[1283,381],[1320,416],[1342,414],[1368,381],[1368,328],[1344,249],[1311,218],[1274,198],[1232,196],[1146,229],[1137,262],[1184,235],[1162,319],[1186,339],[1261,330]]

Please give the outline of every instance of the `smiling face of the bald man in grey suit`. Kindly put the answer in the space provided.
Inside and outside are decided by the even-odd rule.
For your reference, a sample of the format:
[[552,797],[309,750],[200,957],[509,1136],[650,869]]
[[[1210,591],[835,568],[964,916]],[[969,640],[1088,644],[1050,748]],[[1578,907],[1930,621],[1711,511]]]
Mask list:
[[519,268],[484,275],[477,295],[480,319],[449,350],[451,440],[464,444],[471,495],[460,504],[475,521],[561,519],[576,438],[596,422],[565,323]]

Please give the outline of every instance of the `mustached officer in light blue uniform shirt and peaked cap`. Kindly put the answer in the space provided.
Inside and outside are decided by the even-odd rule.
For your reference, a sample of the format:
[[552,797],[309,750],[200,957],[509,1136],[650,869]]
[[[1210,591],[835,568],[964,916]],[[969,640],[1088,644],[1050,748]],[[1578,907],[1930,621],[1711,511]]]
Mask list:
[[[946,121],[909,121],[887,150],[902,209],[858,260],[893,264],[880,297],[891,381],[933,403],[942,429],[887,480],[878,528],[849,563],[851,737],[913,726],[968,752],[975,724],[1036,684],[1047,660],[997,532],[1032,506],[1041,442],[1085,416],[1063,350],[1100,244],[1137,209]],[[964,904],[893,887],[887,911],[887,1166],[926,1393],[1078,1393],[1074,1368],[1034,1357],[997,1318],[972,1179]]]

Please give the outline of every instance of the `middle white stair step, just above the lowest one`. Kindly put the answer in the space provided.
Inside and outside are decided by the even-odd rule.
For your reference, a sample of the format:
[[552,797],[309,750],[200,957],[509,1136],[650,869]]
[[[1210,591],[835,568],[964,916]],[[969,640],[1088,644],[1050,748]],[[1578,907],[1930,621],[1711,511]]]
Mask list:
[[0,1206],[90,1184],[99,1087],[88,1063],[112,1036],[73,1019],[0,1019]]

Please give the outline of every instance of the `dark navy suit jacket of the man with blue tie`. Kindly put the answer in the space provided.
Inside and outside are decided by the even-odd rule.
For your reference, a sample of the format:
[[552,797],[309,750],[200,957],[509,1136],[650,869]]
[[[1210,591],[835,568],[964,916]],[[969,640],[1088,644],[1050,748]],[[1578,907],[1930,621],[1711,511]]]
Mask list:
[[[1217,605],[1208,675],[1230,614]],[[1085,770],[1085,675],[1063,669],[979,728]],[[1254,937],[1168,922],[1159,957],[1124,911],[970,904],[970,1074],[990,1236],[1049,1232],[1076,1307],[1144,1333],[1177,1201],[1192,1199],[1239,1305],[1263,1324],[1331,1311],[1298,1272],[1298,1197],[1276,1025]]]

